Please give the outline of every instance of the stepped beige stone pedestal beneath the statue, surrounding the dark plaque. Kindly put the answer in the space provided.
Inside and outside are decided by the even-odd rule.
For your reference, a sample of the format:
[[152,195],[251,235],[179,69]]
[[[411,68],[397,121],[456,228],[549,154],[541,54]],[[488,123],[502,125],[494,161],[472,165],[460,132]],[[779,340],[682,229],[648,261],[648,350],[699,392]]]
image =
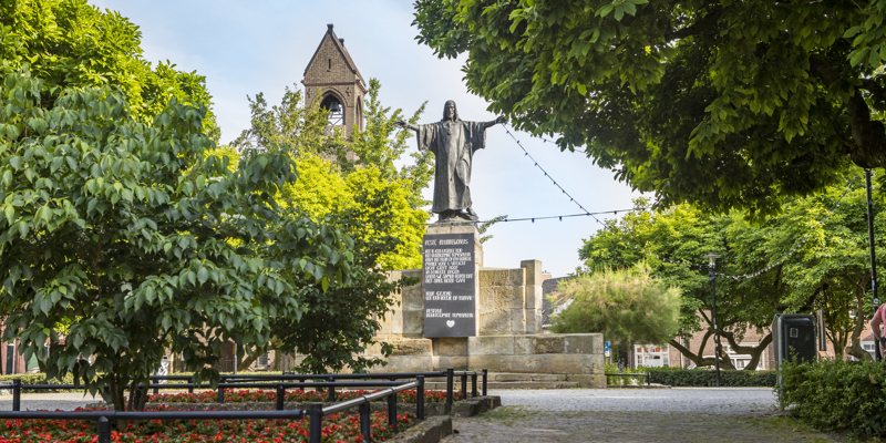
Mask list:
[[[488,369],[493,372],[567,374],[585,388],[605,388],[602,334],[542,333],[542,262],[523,260],[519,268],[483,267],[480,233],[471,224],[431,225],[429,234],[471,234],[475,239],[476,337],[425,338],[424,274],[391,272],[392,279],[420,277],[404,288],[393,312],[381,321],[377,339],[394,348],[379,372]],[[367,352],[379,356],[380,348]]]

